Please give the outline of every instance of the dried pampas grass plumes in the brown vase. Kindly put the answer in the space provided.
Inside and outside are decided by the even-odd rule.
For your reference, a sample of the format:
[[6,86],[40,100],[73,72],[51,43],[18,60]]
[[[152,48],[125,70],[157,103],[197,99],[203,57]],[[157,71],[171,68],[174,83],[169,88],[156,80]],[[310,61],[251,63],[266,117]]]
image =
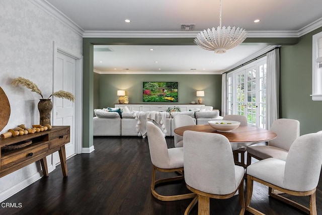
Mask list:
[[[32,92],[36,92],[37,94],[39,94],[41,96],[41,98],[43,99],[44,97],[42,96],[41,94],[41,91],[40,89],[37,87],[37,85],[35,83],[33,83],[32,81],[28,80],[28,79],[25,79],[25,78],[22,78],[22,77],[18,77],[18,78],[15,78],[12,80],[11,84],[13,86],[17,86],[17,85],[22,85],[28,89],[30,89]],[[48,99],[52,96],[55,96],[57,98],[62,98],[62,99],[68,99],[72,102],[75,101],[75,97],[74,95],[72,95],[72,93],[69,93],[67,91],[63,91],[63,90],[60,90],[60,91],[57,91],[53,94],[51,94]]]

